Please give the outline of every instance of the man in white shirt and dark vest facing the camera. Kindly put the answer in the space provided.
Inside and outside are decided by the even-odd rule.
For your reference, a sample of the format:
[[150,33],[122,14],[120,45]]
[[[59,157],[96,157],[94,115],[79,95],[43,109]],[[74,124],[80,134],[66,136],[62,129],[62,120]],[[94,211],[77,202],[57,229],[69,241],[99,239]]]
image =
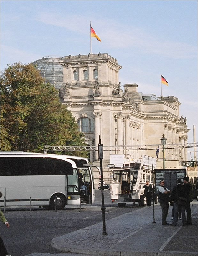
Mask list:
[[159,182],[159,204],[162,208],[162,225],[168,226],[169,223],[166,222],[166,218],[168,215],[168,208],[169,208],[169,194],[171,191],[164,187],[164,181],[161,180]]

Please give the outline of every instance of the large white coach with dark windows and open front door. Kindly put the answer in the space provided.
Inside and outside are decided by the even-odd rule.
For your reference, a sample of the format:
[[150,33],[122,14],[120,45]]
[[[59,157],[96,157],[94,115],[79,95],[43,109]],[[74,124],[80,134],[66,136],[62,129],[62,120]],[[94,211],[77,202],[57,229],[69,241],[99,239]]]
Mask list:
[[[6,206],[43,206],[57,209],[80,204],[80,196],[87,204],[95,199],[94,180],[88,159],[83,157],[27,152],[1,152],[1,192]],[[80,190],[78,171],[88,188],[86,196]],[[4,199],[1,198],[1,206]]]

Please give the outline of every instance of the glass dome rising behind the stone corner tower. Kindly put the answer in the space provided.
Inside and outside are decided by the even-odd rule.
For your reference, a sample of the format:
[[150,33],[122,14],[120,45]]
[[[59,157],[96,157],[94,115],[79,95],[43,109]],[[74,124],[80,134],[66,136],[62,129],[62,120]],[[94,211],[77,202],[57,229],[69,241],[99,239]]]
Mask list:
[[56,89],[63,88],[63,67],[60,62],[63,62],[63,57],[45,56],[41,59],[32,62],[36,65],[36,69],[49,82],[55,86]]

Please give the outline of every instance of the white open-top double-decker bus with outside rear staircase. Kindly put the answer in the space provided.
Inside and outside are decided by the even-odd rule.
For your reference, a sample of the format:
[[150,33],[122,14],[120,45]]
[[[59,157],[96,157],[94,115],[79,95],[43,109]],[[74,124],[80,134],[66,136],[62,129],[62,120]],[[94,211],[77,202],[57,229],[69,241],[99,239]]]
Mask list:
[[[149,180],[152,182],[152,168],[156,167],[156,158],[142,155],[140,159],[135,159],[126,163],[123,167],[110,168],[113,173],[113,181],[110,183],[110,193],[112,203],[118,203],[119,207],[127,204],[146,206],[143,185]],[[154,195],[155,203],[157,197]]]

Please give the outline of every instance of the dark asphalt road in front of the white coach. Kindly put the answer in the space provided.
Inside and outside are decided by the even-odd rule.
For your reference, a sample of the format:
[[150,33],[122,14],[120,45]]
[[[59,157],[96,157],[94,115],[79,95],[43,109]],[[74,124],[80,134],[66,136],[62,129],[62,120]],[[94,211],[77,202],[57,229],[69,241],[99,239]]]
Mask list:
[[[61,211],[46,211],[33,207],[7,209],[6,218],[11,227],[6,229],[1,223],[1,235],[11,255],[28,255],[33,252],[60,253],[51,247],[51,240],[70,232],[102,221],[101,190],[95,190],[96,199],[92,206],[66,206]],[[106,220],[128,213],[139,206],[119,208],[110,202],[110,191],[104,190]]]

